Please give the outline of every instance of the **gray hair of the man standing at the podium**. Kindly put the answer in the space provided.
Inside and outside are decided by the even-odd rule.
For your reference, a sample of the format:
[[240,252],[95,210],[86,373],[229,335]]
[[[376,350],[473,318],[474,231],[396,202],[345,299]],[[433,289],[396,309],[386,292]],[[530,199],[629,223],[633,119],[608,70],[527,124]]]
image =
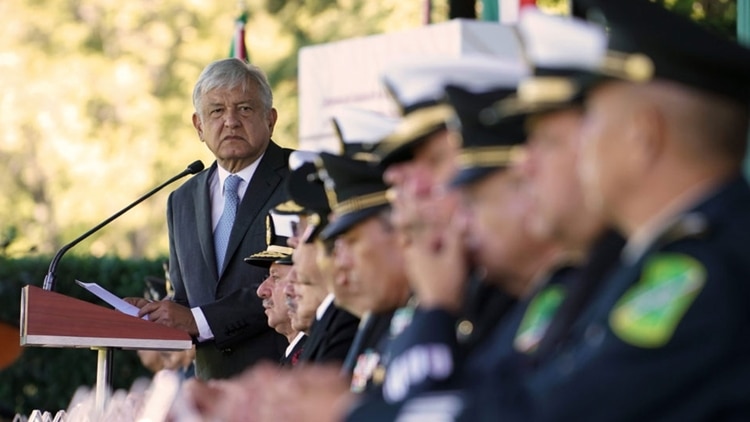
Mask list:
[[265,111],[271,110],[273,93],[266,74],[258,66],[235,58],[217,60],[203,69],[193,89],[193,107],[200,113],[203,95],[216,88],[240,88],[247,91],[250,83],[258,88]]

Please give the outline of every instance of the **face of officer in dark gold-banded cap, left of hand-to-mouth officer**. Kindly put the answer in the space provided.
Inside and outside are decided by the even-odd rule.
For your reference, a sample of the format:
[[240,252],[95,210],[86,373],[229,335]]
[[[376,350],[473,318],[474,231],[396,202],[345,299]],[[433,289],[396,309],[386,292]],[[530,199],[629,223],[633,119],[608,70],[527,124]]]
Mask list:
[[347,281],[336,300],[357,315],[396,309],[409,295],[403,254],[384,218],[367,218],[336,239],[334,262]]

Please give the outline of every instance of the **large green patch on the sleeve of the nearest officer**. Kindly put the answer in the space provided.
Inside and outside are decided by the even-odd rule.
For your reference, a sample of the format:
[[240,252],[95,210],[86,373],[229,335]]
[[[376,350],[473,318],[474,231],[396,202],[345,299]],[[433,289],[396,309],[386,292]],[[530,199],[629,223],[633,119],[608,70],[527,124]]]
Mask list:
[[617,301],[609,325],[628,344],[662,347],[705,283],[706,269],[695,258],[658,254],[645,263],[641,279]]

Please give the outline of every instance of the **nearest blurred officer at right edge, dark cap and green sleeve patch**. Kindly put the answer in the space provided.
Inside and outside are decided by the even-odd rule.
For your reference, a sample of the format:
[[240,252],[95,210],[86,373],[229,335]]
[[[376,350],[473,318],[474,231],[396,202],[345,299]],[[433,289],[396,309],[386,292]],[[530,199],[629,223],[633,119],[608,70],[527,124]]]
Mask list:
[[535,418],[747,419],[750,51],[648,1],[587,5],[611,35],[591,69],[582,183],[627,244],[527,381]]

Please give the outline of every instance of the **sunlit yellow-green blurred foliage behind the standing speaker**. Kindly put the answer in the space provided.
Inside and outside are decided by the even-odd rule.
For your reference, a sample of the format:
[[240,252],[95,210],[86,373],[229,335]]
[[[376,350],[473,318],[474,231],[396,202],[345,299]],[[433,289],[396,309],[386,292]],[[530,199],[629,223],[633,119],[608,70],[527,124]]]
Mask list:
[[[397,0],[248,4],[250,59],[280,111],[275,140],[296,145],[301,46],[418,26],[420,10]],[[234,1],[0,2],[5,254],[50,254],[193,160],[212,161],[192,128],[191,90],[227,56],[239,11]],[[166,253],[166,195],[71,253]]]

